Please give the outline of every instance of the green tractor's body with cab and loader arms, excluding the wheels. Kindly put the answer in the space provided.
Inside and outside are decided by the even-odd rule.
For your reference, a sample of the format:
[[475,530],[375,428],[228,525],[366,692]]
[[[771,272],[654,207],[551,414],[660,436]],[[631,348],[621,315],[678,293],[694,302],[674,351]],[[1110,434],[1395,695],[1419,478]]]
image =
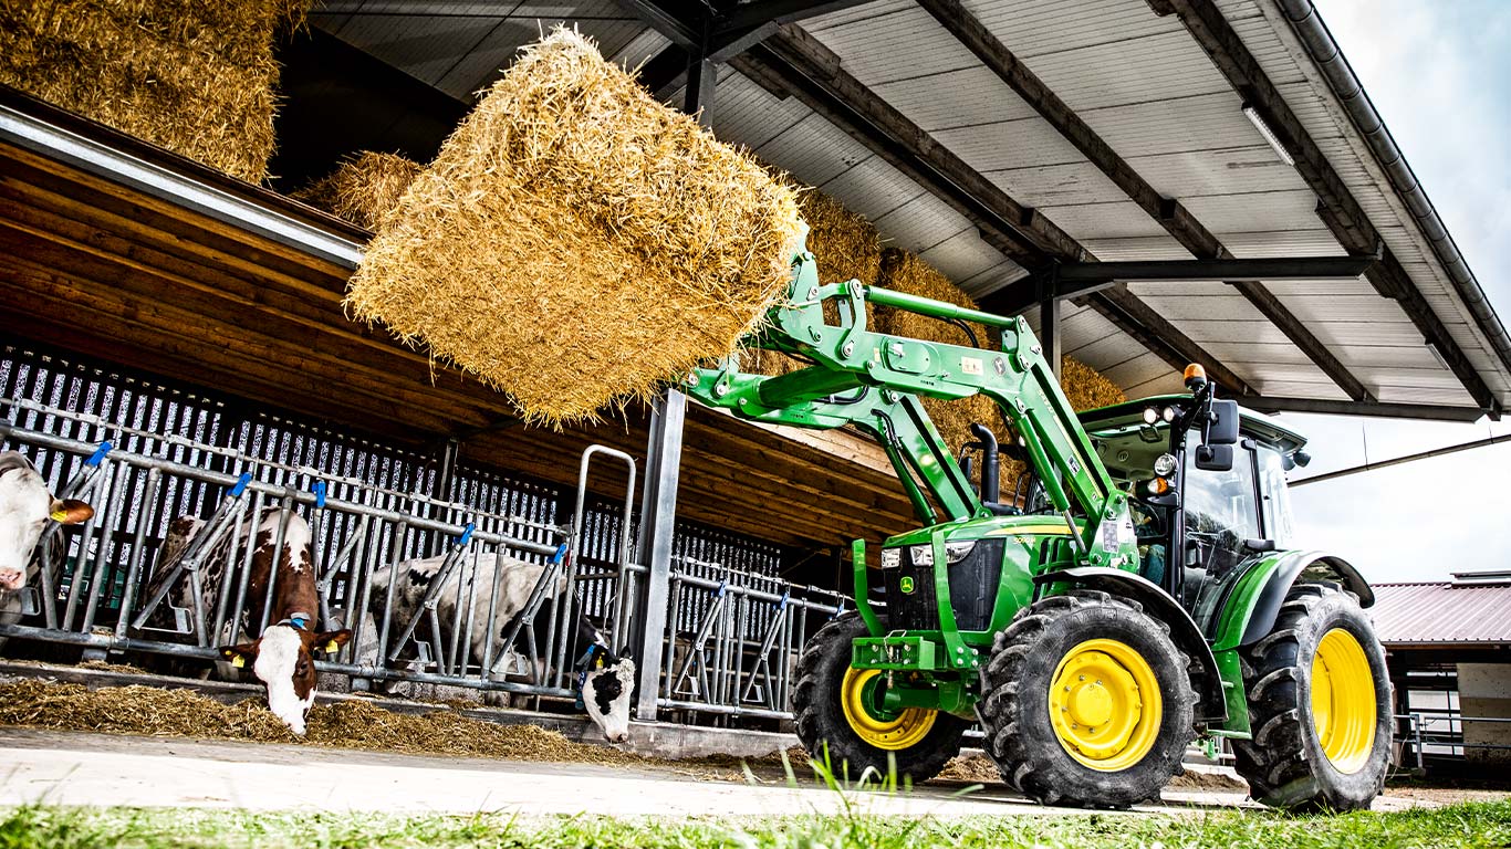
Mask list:
[[[837,304],[839,325],[825,322],[827,301]],[[866,325],[867,304],[979,322],[1000,334],[1000,346],[878,334]],[[975,719],[994,634],[1041,598],[1103,589],[1142,594],[1135,597],[1144,609],[1171,625],[1201,668],[1198,724],[1248,737],[1238,648],[1251,619],[1272,621],[1266,600],[1283,595],[1301,570],[1363,586],[1336,557],[1277,550],[1289,541],[1284,468],[1296,462],[1304,438],[1216,402],[1204,379],[1191,384],[1194,394],[1077,415],[1021,317],[855,281],[820,286],[811,254],[795,257],[786,301],[749,344],[811,366],[748,375],[731,357],[692,372],[683,390],[752,421],[863,431],[885,449],[923,523],[887,539],[879,556],[867,556],[864,541],[852,545],[854,598],[869,636],[852,642],[851,666],[887,674],[881,709],[926,707]],[[1003,453],[1031,470],[1021,505],[982,499],[916,397],[978,393],[1002,412]],[[1198,453],[1209,450],[1207,435],[1221,429],[1224,415],[1231,434],[1210,450],[1231,450],[1239,464],[1228,471],[1198,468]],[[1206,464],[1221,465],[1210,458]],[[1156,479],[1166,486],[1157,494],[1148,489]],[[1224,503],[1253,520],[1224,524]],[[884,591],[885,610],[872,606],[872,588]]]

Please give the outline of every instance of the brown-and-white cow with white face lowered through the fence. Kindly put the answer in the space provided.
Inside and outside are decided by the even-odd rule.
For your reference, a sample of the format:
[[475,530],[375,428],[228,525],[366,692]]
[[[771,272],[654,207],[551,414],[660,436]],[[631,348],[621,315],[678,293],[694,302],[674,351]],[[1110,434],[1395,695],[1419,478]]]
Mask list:
[[[283,545],[275,553],[280,526],[283,526]],[[202,530],[204,521],[195,517],[178,517],[169,524],[147,598],[153,598],[162,583],[172,579],[174,567],[183,559],[195,535]],[[319,631],[313,627],[319,612],[319,595],[314,559],[310,553],[310,526],[298,514],[278,508],[264,509],[257,521],[242,523],[237,535],[227,533],[202,554],[199,604],[207,619],[216,609],[222,585],[227,592],[236,592],[236,583],[225,582],[225,576],[231,573],[233,556],[245,553],[248,544],[252,547],[252,559],[246,580],[246,606],[240,621],[227,622],[225,630],[215,638],[234,641],[239,631],[251,633],[258,627],[263,621],[267,582],[272,579],[269,625],[255,641],[222,645],[218,651],[233,668],[251,669],[252,677],[267,693],[267,709],[295,734],[304,736],[305,719],[314,704],[314,654],[338,651],[351,639],[352,631],[346,628]],[[195,601],[192,592],[190,582],[180,576],[171,597],[177,606],[190,607]]]

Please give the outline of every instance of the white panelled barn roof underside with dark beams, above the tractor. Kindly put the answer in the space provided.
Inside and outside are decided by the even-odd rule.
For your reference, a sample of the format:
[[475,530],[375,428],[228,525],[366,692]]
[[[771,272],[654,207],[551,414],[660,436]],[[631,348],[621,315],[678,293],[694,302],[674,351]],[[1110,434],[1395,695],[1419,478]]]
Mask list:
[[707,9],[331,0],[311,23],[453,106],[556,23],[644,62],[669,103],[710,56],[716,134],[984,308],[1037,320],[1041,293],[1067,296],[1062,350],[1133,396],[1201,361],[1257,409],[1475,418],[1511,400],[1505,328],[1309,0]]

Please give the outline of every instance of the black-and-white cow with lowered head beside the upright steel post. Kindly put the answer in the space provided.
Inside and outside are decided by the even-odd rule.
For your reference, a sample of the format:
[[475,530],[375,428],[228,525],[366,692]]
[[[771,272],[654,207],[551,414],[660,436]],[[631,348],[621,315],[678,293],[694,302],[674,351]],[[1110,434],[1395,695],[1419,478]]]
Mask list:
[[[431,585],[435,583],[444,563],[446,556],[437,556],[405,560],[397,567],[385,567],[373,571],[369,597],[373,621],[381,621],[388,585],[394,583],[393,576],[399,576],[393,589],[390,638],[399,636],[399,630],[420,612],[425,595],[429,592]],[[514,647],[505,647],[502,641],[514,630],[514,622],[523,613],[530,592],[539,583],[544,571],[545,563],[532,563],[508,554],[485,553],[477,556],[476,568],[473,568],[473,560],[465,557],[446,579],[446,585],[437,597],[435,615],[443,622],[471,621],[470,633],[461,634],[461,639],[470,641],[468,656],[471,663],[477,666],[482,666],[487,660],[484,654],[490,631],[494,634],[496,663],[488,671],[490,677],[503,677],[511,660],[515,657],[514,651],[511,651]],[[473,582],[474,589],[462,585],[464,580]],[[458,598],[458,588],[461,589],[461,598]],[[490,619],[490,594],[494,592],[494,588],[497,588],[497,600],[493,604],[493,618]],[[565,574],[559,574],[552,592],[559,598],[565,589]],[[467,609],[468,597],[471,597],[470,616]],[[635,660],[623,651],[618,654],[613,653],[609,647],[607,634],[589,616],[582,615],[576,604],[571,613],[574,627],[568,631],[571,639],[567,645],[567,657],[574,662],[576,689],[582,695],[582,709],[588,712],[588,718],[603,731],[604,737],[612,742],[623,742],[629,737],[630,731]],[[521,627],[520,639],[524,639],[524,628],[535,628],[535,645],[544,651],[547,621],[548,616],[545,615],[535,616],[533,622],[526,622]],[[449,633],[450,628],[446,628],[446,631]],[[417,631],[417,636],[422,639],[425,634],[426,631],[423,630]],[[369,648],[375,651],[375,647]],[[542,671],[544,666],[536,665],[536,680],[539,680]]]

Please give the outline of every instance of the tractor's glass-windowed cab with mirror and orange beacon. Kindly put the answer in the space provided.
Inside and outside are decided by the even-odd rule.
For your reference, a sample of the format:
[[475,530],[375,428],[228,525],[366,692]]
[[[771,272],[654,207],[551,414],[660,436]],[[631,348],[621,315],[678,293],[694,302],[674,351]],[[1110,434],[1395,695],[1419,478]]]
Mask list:
[[1242,565],[1292,547],[1286,471],[1306,465],[1306,437],[1231,402],[1203,428],[1189,394],[1156,396],[1080,415],[1097,456],[1132,494],[1139,570],[1209,621]]

